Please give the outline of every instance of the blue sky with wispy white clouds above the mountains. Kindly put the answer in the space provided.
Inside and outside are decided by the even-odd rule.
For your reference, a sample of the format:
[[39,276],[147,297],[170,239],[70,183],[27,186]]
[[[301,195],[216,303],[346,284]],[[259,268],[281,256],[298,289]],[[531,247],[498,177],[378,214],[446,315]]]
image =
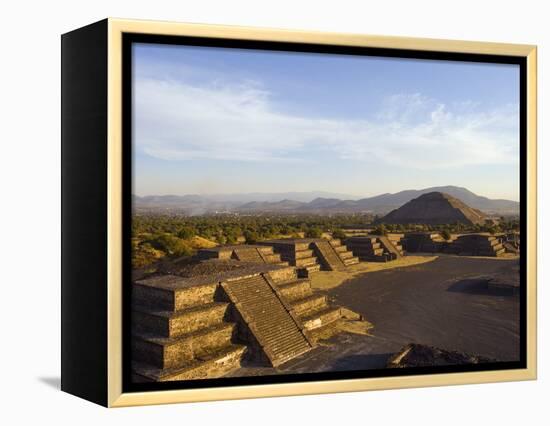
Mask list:
[[519,199],[519,67],[133,45],[137,195]]

